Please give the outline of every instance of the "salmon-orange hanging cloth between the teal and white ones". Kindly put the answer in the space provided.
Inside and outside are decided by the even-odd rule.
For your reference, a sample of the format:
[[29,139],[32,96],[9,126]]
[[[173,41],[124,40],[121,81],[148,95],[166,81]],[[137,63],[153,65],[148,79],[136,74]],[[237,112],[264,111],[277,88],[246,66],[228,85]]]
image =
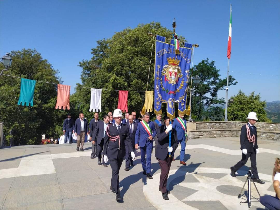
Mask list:
[[57,102],[55,109],[70,109],[70,85],[57,84]]

